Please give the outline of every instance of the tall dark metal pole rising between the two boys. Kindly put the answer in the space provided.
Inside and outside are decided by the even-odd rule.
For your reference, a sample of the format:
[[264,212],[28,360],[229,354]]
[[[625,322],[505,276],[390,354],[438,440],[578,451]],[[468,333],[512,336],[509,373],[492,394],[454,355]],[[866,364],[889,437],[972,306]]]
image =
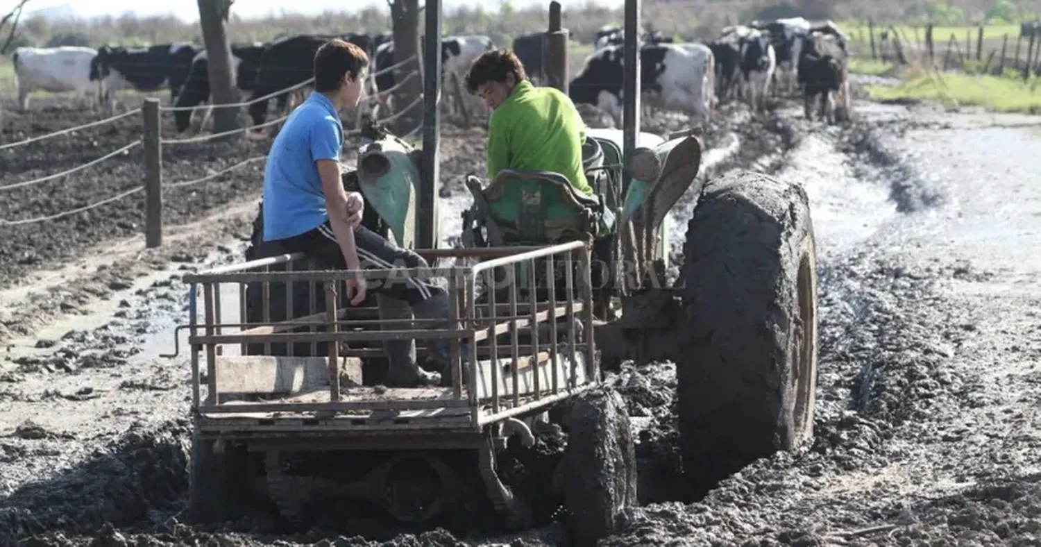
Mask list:
[[416,247],[436,249],[437,179],[440,177],[439,143],[441,134],[441,2],[426,0],[423,74],[423,188],[417,196]]

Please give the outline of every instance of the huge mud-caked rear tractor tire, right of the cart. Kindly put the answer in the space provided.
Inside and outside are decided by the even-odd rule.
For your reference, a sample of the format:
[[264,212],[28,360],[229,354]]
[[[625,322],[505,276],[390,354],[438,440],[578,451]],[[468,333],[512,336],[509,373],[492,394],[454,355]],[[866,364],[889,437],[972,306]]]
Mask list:
[[752,172],[709,182],[681,276],[678,414],[684,472],[700,496],[813,437],[817,269],[803,188]]

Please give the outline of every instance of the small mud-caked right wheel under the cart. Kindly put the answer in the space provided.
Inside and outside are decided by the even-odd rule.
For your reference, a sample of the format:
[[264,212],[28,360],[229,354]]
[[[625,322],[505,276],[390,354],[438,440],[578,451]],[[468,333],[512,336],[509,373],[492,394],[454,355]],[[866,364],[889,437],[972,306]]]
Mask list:
[[595,389],[576,398],[565,421],[567,446],[556,482],[572,544],[594,546],[636,497],[636,448],[621,396]]

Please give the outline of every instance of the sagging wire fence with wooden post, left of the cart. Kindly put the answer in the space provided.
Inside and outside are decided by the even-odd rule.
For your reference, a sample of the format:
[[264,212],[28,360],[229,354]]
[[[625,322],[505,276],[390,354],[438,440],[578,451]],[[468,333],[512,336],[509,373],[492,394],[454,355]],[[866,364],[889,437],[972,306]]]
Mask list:
[[[370,83],[371,84],[375,84],[375,78],[377,76],[380,76],[380,75],[388,73],[390,71],[400,69],[401,67],[403,67],[403,66],[405,66],[405,65],[407,65],[409,63],[412,63],[414,60],[416,60],[416,57],[412,56],[412,57],[409,57],[409,58],[407,58],[405,60],[397,63],[397,64],[395,64],[392,66],[383,68],[383,69],[381,69],[379,71],[376,71],[376,72],[373,72],[372,74],[369,74],[367,78],[370,80]],[[370,95],[365,96],[364,99],[363,99],[363,101],[362,101],[362,103],[365,106],[369,106],[369,105],[372,105],[375,102],[381,102],[382,98],[388,97],[388,96],[395,94],[396,92],[398,92],[402,88],[402,85],[406,84],[412,78],[415,78],[415,77],[417,77],[420,75],[421,75],[420,71],[417,69],[413,69],[408,74],[406,74],[403,78],[401,78],[400,81],[397,81],[392,86],[390,86],[390,88],[388,88],[386,90],[379,90],[377,93],[370,94]],[[222,108],[227,108],[227,107],[238,107],[238,108],[249,107],[252,104],[256,104],[256,103],[259,103],[259,102],[262,102],[262,101],[268,101],[268,100],[271,100],[273,98],[276,98],[276,97],[279,97],[281,95],[284,95],[286,93],[291,93],[291,92],[295,92],[295,91],[298,91],[298,90],[302,90],[302,89],[304,89],[304,88],[306,88],[308,85],[313,84],[313,82],[314,82],[314,78],[312,77],[312,78],[308,78],[307,80],[304,80],[304,81],[295,83],[293,85],[289,85],[287,88],[284,88],[282,90],[279,90],[279,91],[266,94],[266,95],[261,96],[261,97],[257,97],[255,99],[251,99],[249,101],[243,101],[243,102],[231,103],[231,104],[210,105],[209,107],[214,107],[214,108],[215,107],[222,107]],[[149,107],[150,107],[149,106],[149,101],[153,101],[153,104],[152,104],[151,107],[154,108],[154,110],[153,110],[154,115],[152,116],[152,118],[155,119],[155,121],[152,122],[153,125],[154,125],[154,127],[151,127],[151,128],[149,128],[149,119],[150,119],[150,116],[149,116],[149,113],[147,111],[149,109]],[[116,115],[116,116],[111,116],[111,117],[105,118],[103,120],[98,120],[98,121],[85,123],[85,124],[82,124],[82,125],[77,125],[75,127],[70,127],[70,128],[67,128],[67,129],[60,129],[60,130],[57,130],[57,131],[53,131],[53,132],[47,133],[47,134],[43,134],[43,135],[39,135],[39,136],[33,136],[31,139],[26,139],[26,140],[15,142],[15,143],[7,143],[7,144],[0,145],[0,151],[2,151],[2,150],[9,150],[9,149],[15,149],[15,148],[18,148],[18,147],[26,146],[26,145],[29,145],[29,144],[32,144],[32,143],[37,143],[37,142],[41,142],[41,141],[45,141],[47,139],[51,139],[51,138],[54,138],[54,136],[58,136],[58,135],[62,135],[62,134],[75,133],[76,131],[80,131],[80,130],[83,130],[83,129],[88,129],[88,128],[92,128],[92,127],[98,127],[98,126],[105,125],[105,124],[111,124],[111,123],[113,123],[113,122],[116,122],[118,120],[121,120],[123,118],[127,118],[127,117],[138,115],[138,114],[144,114],[144,119],[145,119],[145,130],[143,131],[142,139],[139,139],[139,140],[135,140],[135,141],[132,141],[130,143],[127,143],[126,145],[124,145],[124,146],[122,146],[122,147],[120,147],[120,148],[118,148],[118,149],[116,149],[116,150],[113,150],[111,152],[108,152],[105,155],[102,155],[102,156],[100,156],[98,158],[92,159],[90,161],[86,161],[84,164],[78,165],[76,167],[67,169],[67,170],[58,172],[58,173],[53,173],[51,175],[42,176],[42,177],[37,177],[37,178],[31,179],[31,180],[25,180],[25,181],[20,181],[20,182],[0,183],[0,191],[7,191],[7,190],[14,190],[14,189],[19,189],[19,188],[25,188],[25,187],[41,184],[41,183],[44,183],[44,182],[49,182],[49,181],[56,180],[56,179],[59,179],[59,178],[62,178],[62,177],[67,177],[69,175],[78,173],[80,171],[83,171],[83,170],[86,170],[86,169],[92,168],[94,166],[97,166],[99,164],[102,164],[102,163],[104,163],[104,161],[106,161],[108,159],[111,159],[113,157],[117,157],[119,155],[127,154],[127,153],[129,153],[130,150],[132,150],[132,149],[134,149],[134,148],[136,148],[138,146],[143,146],[144,145],[146,158],[145,158],[145,161],[144,161],[145,163],[145,166],[144,166],[145,169],[144,169],[144,176],[143,176],[144,180],[143,180],[143,184],[142,185],[138,185],[138,187],[126,190],[126,191],[121,192],[121,193],[119,193],[119,194],[117,194],[115,196],[102,199],[100,201],[97,201],[97,202],[94,202],[94,203],[91,203],[91,204],[87,204],[87,205],[83,205],[83,206],[80,206],[80,207],[75,207],[75,208],[72,208],[72,209],[69,209],[69,210],[65,210],[65,212],[61,212],[61,213],[57,213],[57,214],[54,214],[54,215],[40,216],[40,217],[34,217],[34,218],[29,218],[29,219],[19,219],[19,220],[0,219],[0,226],[19,226],[19,225],[27,225],[27,224],[34,224],[34,223],[40,223],[40,222],[47,222],[47,221],[57,220],[57,219],[61,219],[61,218],[65,218],[65,217],[72,216],[72,215],[76,215],[76,214],[79,214],[79,213],[84,213],[84,212],[87,212],[87,210],[91,210],[91,209],[95,209],[95,208],[101,207],[103,205],[106,205],[106,204],[109,204],[109,203],[112,203],[112,202],[116,202],[116,201],[128,198],[130,196],[133,196],[133,195],[135,195],[135,194],[137,194],[139,192],[145,192],[146,193],[146,200],[152,200],[152,199],[155,199],[152,196],[152,194],[155,194],[156,192],[158,192],[158,189],[168,189],[168,190],[180,189],[180,188],[193,187],[193,185],[196,185],[196,184],[200,184],[200,183],[204,183],[204,182],[217,179],[217,178],[219,178],[219,177],[221,177],[223,175],[226,175],[228,173],[234,172],[234,171],[236,171],[238,169],[242,169],[242,168],[244,168],[246,166],[249,166],[249,165],[252,165],[252,164],[256,164],[258,161],[262,161],[262,160],[266,159],[268,156],[266,155],[260,155],[260,156],[250,157],[248,159],[244,159],[242,161],[238,161],[238,163],[236,163],[236,164],[234,164],[234,165],[232,165],[230,167],[227,167],[225,169],[222,169],[220,171],[210,173],[210,174],[208,174],[206,176],[199,177],[199,178],[196,178],[196,179],[180,180],[180,181],[170,182],[170,183],[161,183],[161,182],[158,182],[158,180],[161,180],[161,175],[159,175],[158,173],[153,173],[155,171],[161,171],[161,158],[157,157],[158,151],[161,150],[161,145],[182,145],[182,144],[193,144],[193,143],[206,143],[206,142],[210,142],[210,141],[213,141],[213,140],[217,140],[217,139],[227,138],[227,136],[231,136],[231,135],[238,134],[238,133],[246,133],[247,131],[252,131],[252,130],[256,130],[256,129],[262,129],[262,128],[265,128],[265,127],[272,127],[272,126],[275,126],[275,125],[278,125],[278,124],[284,122],[288,118],[288,114],[286,114],[286,115],[283,115],[283,116],[281,116],[281,117],[279,117],[277,119],[274,119],[274,120],[270,120],[270,121],[266,121],[266,122],[263,122],[263,123],[259,123],[259,124],[256,124],[256,125],[246,125],[244,127],[239,127],[239,128],[228,130],[228,131],[221,131],[221,132],[217,132],[217,133],[202,134],[202,135],[196,135],[196,136],[189,136],[189,138],[182,138],[182,139],[162,139],[159,135],[159,125],[160,124],[158,122],[158,116],[159,116],[160,113],[163,113],[163,111],[195,110],[197,108],[202,108],[202,107],[205,107],[205,106],[161,106],[161,105],[157,104],[157,101],[158,101],[157,99],[146,99],[146,107],[143,107],[143,108],[141,108],[141,107],[139,108],[134,108],[132,110],[129,110],[129,111],[126,111],[126,113],[123,113],[123,114],[119,114],[119,115]],[[417,104],[422,104],[422,101],[423,101],[423,95],[420,94],[420,96],[417,98],[415,98],[412,102],[410,102],[404,108],[396,108],[398,110],[396,114],[392,114],[392,115],[387,116],[385,118],[379,119],[377,121],[379,123],[383,123],[383,124],[393,122],[393,121],[398,120],[399,118],[401,118],[404,114],[410,111]],[[361,104],[359,104],[359,106],[361,106]],[[406,133],[404,136],[413,136],[413,135],[415,135],[416,133],[420,132],[420,130],[422,129],[422,127],[423,127],[422,124],[417,125],[415,128],[413,128],[411,131],[409,131],[408,133]],[[355,135],[360,134],[360,132],[361,131],[359,129],[354,129],[354,130],[345,132],[345,136],[355,136]],[[150,145],[150,142],[149,142],[150,134],[152,135],[151,138],[153,139],[153,142],[151,143],[151,146],[149,146]],[[151,157],[152,165],[153,166],[157,165],[158,166],[158,170],[156,170],[154,168],[153,169],[149,168],[150,158],[148,156],[150,154],[152,155],[152,157]],[[156,179],[156,180],[152,180],[152,179]],[[156,182],[158,182],[158,183],[156,183]],[[152,207],[146,206],[146,210],[147,212],[148,210],[152,210]],[[148,217],[148,214],[146,214],[146,217]],[[159,210],[159,217],[161,217],[161,208]],[[148,226],[146,228],[146,232],[151,233],[155,229],[155,226],[154,226],[155,222],[159,222],[160,223],[160,225],[158,226],[158,230],[161,233],[161,218],[157,219],[157,220],[156,219],[146,218],[146,225]],[[153,245],[149,245],[149,246],[153,246]]]

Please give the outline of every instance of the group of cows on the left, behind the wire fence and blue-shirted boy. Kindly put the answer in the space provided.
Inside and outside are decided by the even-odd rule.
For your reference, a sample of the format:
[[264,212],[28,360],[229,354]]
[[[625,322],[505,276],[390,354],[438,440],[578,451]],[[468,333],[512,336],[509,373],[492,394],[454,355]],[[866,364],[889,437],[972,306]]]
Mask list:
[[[290,99],[299,97],[312,76],[310,59],[326,41],[340,38],[364,49],[372,60],[370,71],[380,71],[400,63],[393,54],[389,32],[375,35],[348,33],[342,35],[299,34],[268,44],[232,44],[231,69],[233,84],[248,101],[274,96],[278,108],[286,111]],[[471,63],[484,51],[492,49],[490,39],[483,35],[446,36],[441,41],[441,65],[446,77],[462,78]],[[305,59],[304,61],[301,61]],[[111,109],[116,93],[121,90],[153,92],[170,90],[170,102],[177,130],[191,125],[193,110],[209,100],[209,72],[206,51],[193,44],[163,44],[147,48],[102,46],[18,48],[11,56],[17,80],[19,105],[28,108],[29,93],[76,92],[80,99],[94,96]],[[393,72],[371,78],[366,93],[395,86]],[[294,93],[279,93],[289,88]],[[389,101],[379,98],[380,105]],[[252,102],[249,115],[254,124],[268,116],[268,101]]]

